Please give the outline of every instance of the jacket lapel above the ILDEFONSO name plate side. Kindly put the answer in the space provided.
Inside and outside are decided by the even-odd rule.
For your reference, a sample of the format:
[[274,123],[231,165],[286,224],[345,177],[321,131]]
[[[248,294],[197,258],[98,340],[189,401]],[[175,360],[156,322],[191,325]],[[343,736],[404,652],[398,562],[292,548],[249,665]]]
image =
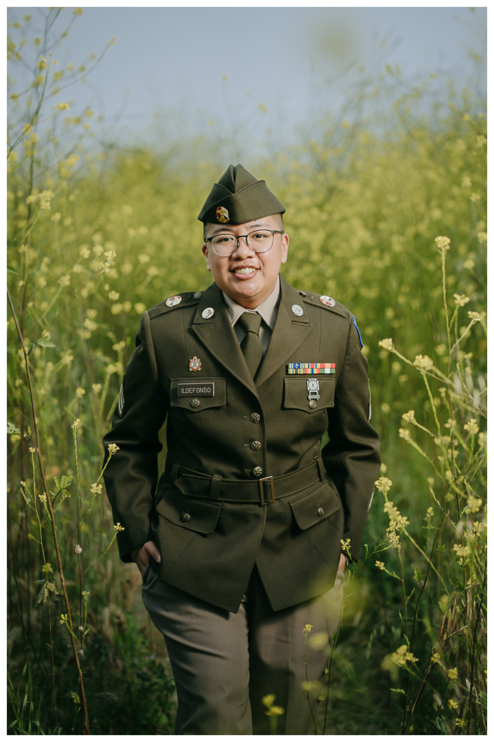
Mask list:
[[[203,318],[202,312],[207,307],[214,309],[214,314],[210,318]],[[198,302],[193,321],[193,331],[207,347],[210,354],[257,397],[256,384],[254,384],[250,375],[244,354],[241,352],[235,332],[233,332],[233,327],[230,324],[227,306],[216,283],[212,283],[203,292]]]

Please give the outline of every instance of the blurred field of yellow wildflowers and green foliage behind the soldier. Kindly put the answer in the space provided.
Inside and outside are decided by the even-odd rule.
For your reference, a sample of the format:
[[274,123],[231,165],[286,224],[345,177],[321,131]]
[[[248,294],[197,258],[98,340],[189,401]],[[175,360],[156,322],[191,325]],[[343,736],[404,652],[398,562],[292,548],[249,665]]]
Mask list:
[[[67,590],[73,606],[80,606],[80,564],[87,568],[101,556],[113,537],[113,520],[101,493],[90,519],[79,528],[70,427],[79,419],[79,483],[86,497],[101,470],[101,437],[110,425],[141,312],[170,295],[202,290],[210,283],[196,217],[228,162],[201,137],[162,142],[159,150],[87,145],[84,127],[92,112],[73,115],[60,103],[64,76],[56,78],[55,52],[46,39],[39,45],[31,39],[30,53],[33,49],[30,88],[23,93],[12,83],[9,91],[8,283],[29,354],[39,422],[36,442],[24,355],[9,315],[9,723],[10,733],[70,734],[81,732],[81,714],[79,696],[74,696],[79,689],[70,635],[59,621],[65,605],[61,596],[51,593],[35,607],[36,581],[43,582],[50,572],[46,562],[57,592],[60,581],[49,519],[36,531],[37,516],[30,509],[38,508],[41,520],[46,515],[41,490],[33,488],[28,449],[37,447],[44,457],[53,496],[60,490],[54,478],[73,477],[56,511],[56,525]],[[9,54],[11,65],[22,63],[22,45],[10,42]],[[412,361],[417,355],[429,356],[445,375],[460,364],[457,375],[464,379],[469,409],[481,431],[475,451],[474,443],[467,441],[473,453],[465,466],[470,467],[469,481],[482,508],[486,496],[486,103],[478,93],[458,91],[449,81],[441,93],[435,88],[430,105],[430,85],[433,82],[404,85],[399,70],[384,68],[378,85],[362,79],[358,100],[346,114],[336,118],[328,113],[310,136],[301,131],[298,142],[276,156],[242,163],[267,180],[287,208],[290,255],[282,266],[284,277],[297,289],[333,296],[356,315],[370,364],[373,424],[381,436],[387,476],[394,482],[393,499],[420,543],[429,533],[424,535],[426,510],[436,508],[431,487],[438,492],[445,487],[445,493],[450,482],[444,479],[444,469],[438,476],[398,432],[404,424],[401,415],[413,409],[421,424],[433,430],[434,412],[444,422],[451,410],[438,391],[440,384],[431,381],[431,397],[417,369],[380,347],[381,338],[393,338],[395,348]],[[424,96],[427,106],[422,105]],[[469,310],[480,315],[453,360],[445,332],[437,235],[451,240],[445,289],[450,317],[458,311],[452,335],[456,332],[458,338],[467,331]],[[454,295],[470,301],[458,303]],[[461,430],[471,416],[465,417],[465,409],[458,406]],[[433,438],[426,436],[420,445],[437,463]],[[30,487],[32,499],[22,496],[20,482]],[[389,525],[383,505],[376,493],[364,539],[370,553],[382,544]],[[481,516],[483,511],[475,517]],[[463,574],[461,582],[449,556],[462,528],[471,528],[469,513],[459,505],[453,525],[443,539],[449,562],[441,574],[448,580],[448,592],[431,577],[413,648],[427,668],[441,626],[444,634],[444,617],[450,620],[453,608],[458,612],[455,597],[467,593],[467,577]],[[33,533],[38,533],[36,539],[42,534],[45,562]],[[74,554],[79,542],[81,559]],[[387,568],[393,571],[397,557],[393,550],[388,556]],[[414,567],[425,572],[427,560],[406,539],[401,559],[407,580]],[[386,660],[404,644],[402,588],[374,563],[365,560],[348,589],[333,655],[338,672],[333,669],[329,694],[332,734],[400,733],[407,718],[403,694],[408,693],[410,668],[406,672],[400,663]],[[478,565],[476,571],[480,574]],[[161,635],[141,605],[140,583],[135,565],[121,565],[113,549],[84,577],[90,631],[81,667],[92,733],[173,730],[173,680]],[[481,594],[481,606],[483,601]],[[77,623],[78,611],[73,611]],[[427,681],[408,733],[467,731],[467,716],[464,723],[456,720],[467,708],[468,691],[461,695],[450,687],[448,668],[459,667],[467,678],[464,688],[476,683],[475,692],[484,691],[478,674],[476,680],[469,675],[472,653],[461,660],[461,642],[447,644],[444,636],[442,641],[441,656],[450,657],[444,659],[446,674]],[[482,642],[473,646],[479,672],[484,667]],[[447,701],[448,692],[456,705]],[[470,726],[471,695],[468,729],[485,733],[483,712],[475,712],[475,723],[472,712]],[[144,698],[146,703],[141,702]]]

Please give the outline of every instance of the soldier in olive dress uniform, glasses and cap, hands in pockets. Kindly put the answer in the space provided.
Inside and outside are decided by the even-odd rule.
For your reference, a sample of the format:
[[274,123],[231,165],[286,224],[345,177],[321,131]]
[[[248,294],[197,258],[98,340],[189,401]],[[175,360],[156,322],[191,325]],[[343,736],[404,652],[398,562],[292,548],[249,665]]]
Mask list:
[[[214,283],[144,312],[104,438],[119,447],[104,479],[120,557],[164,634],[179,735],[269,734],[269,694],[278,734],[310,733],[302,632],[336,631],[342,543],[357,559],[378,476],[355,317],[279,275],[284,211],[241,165],[213,185],[198,219]],[[326,659],[307,649],[310,680]]]

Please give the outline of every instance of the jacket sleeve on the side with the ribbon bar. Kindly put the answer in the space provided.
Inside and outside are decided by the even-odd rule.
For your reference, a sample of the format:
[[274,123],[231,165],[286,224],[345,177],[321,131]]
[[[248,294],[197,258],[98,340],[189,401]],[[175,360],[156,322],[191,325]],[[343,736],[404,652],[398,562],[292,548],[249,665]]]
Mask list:
[[356,326],[350,323],[344,365],[331,410],[329,443],[321,456],[344,508],[343,539],[350,539],[350,556],[358,559],[374,482],[379,476],[378,434],[370,424],[367,358],[361,352]]

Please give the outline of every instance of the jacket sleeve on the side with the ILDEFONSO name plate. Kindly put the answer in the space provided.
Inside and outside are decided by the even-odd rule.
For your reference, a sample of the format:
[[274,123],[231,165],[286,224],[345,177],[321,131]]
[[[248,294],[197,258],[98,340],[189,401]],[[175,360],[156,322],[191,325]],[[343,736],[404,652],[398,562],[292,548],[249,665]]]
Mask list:
[[113,413],[113,427],[103,439],[105,463],[108,446],[119,450],[104,470],[107,496],[113,520],[120,523],[117,541],[120,558],[131,562],[130,552],[152,539],[150,518],[158,483],[159,430],[170,400],[158,378],[158,368],[148,312],[144,312],[136,335],[136,350],[122,381],[119,404]]

